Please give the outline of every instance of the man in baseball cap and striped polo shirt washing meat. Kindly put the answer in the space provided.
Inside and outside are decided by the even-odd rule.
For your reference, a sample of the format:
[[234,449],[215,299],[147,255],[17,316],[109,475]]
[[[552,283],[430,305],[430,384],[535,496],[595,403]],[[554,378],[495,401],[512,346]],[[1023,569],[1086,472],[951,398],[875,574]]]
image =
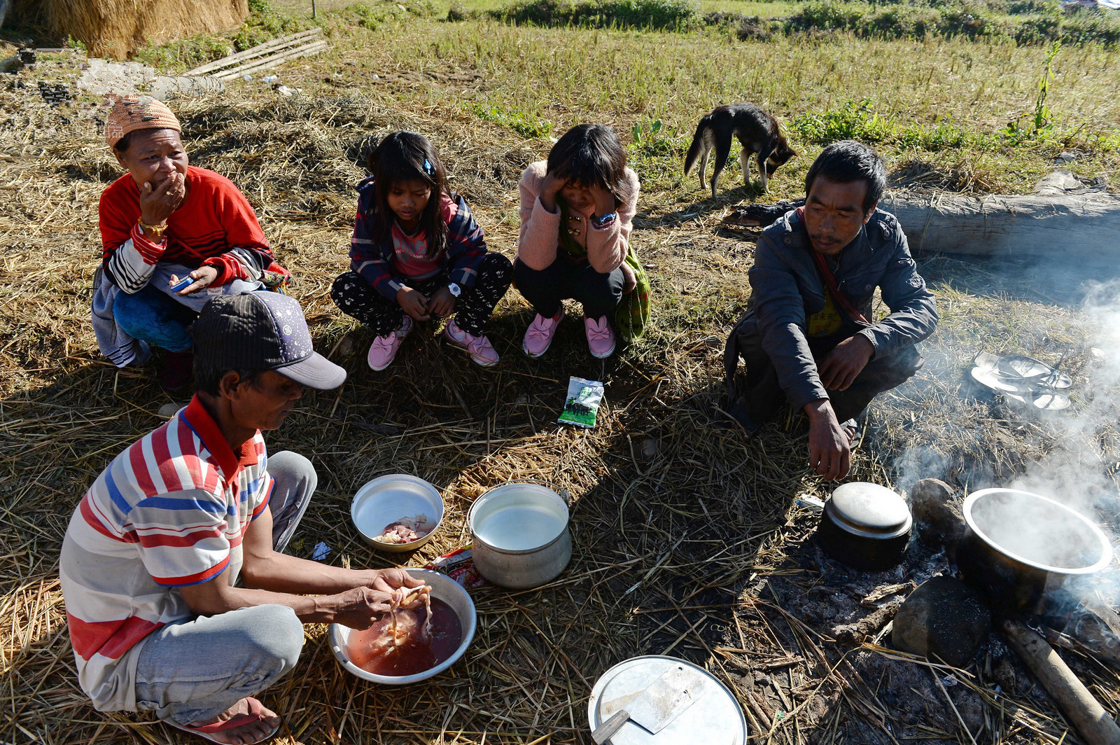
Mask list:
[[198,392],[85,493],[59,575],[78,681],[96,709],[256,743],[280,719],[253,696],[295,667],[304,623],[367,628],[393,589],[422,584],[282,553],[316,474],[300,455],[270,455],[261,430],[283,423],[304,387],[346,379],[312,350],[299,304],[217,296],[192,333]]

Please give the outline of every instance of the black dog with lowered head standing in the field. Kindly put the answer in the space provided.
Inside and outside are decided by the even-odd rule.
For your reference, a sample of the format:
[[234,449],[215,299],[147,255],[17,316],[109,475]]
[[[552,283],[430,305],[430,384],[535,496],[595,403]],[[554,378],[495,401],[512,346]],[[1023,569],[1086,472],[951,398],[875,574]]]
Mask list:
[[719,174],[727,165],[727,156],[731,151],[731,137],[739,138],[743,151],[739,162],[743,165],[743,184],[750,185],[752,153],[758,159],[758,173],[762,176],[763,192],[769,188],[766,179],[774,175],[777,167],[797,155],[785,141],[777,129],[777,121],[753,103],[734,103],[716,109],[700,120],[697,133],[692,136],[689,155],[684,158],[684,176],[687,177],[700,160],[700,186],[707,186],[703,174],[708,168],[708,153],[716,148],[716,162],[711,170],[711,195],[716,196],[716,183]]

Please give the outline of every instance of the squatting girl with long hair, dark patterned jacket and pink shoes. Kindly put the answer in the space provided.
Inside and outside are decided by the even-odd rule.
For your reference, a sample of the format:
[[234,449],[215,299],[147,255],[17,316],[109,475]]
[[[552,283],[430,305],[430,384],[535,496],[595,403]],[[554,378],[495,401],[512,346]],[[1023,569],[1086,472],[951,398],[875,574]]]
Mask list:
[[373,329],[368,362],[384,370],[414,320],[449,318],[444,335],[484,367],[498,355],[485,327],[510,289],[513,266],[488,253],[483,230],[431,142],[393,132],[368,158],[373,176],[357,185],[351,270],[330,289],[335,305]]

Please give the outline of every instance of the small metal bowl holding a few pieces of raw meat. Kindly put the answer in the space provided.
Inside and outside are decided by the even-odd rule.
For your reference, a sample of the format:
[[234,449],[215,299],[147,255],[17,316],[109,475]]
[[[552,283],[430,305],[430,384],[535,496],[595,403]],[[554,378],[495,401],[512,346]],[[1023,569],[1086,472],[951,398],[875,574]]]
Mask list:
[[438,488],[410,474],[377,476],[354,494],[351,521],[379,551],[414,551],[431,540],[444,521],[444,497]]

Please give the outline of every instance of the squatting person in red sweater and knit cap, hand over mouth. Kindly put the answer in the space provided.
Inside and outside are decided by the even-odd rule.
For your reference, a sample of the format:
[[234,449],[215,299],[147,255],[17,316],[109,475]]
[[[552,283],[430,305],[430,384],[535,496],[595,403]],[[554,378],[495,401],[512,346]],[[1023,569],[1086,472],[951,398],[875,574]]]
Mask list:
[[244,195],[227,178],[189,165],[179,120],[147,96],[118,97],[105,143],[128,171],[101,195],[102,262],[93,328],[113,364],[143,364],[164,350],[159,381],[190,382],[187,332],[214,295],[282,286],[288,272]]

